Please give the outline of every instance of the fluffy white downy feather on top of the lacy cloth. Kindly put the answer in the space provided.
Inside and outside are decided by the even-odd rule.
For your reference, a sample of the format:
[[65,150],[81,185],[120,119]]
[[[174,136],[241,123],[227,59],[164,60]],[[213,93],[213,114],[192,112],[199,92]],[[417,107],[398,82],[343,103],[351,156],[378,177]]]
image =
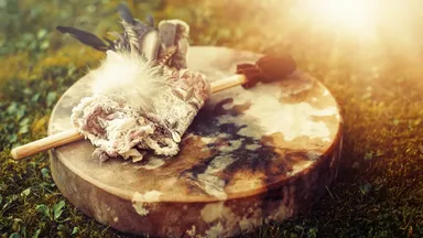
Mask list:
[[143,111],[153,110],[154,97],[165,91],[166,78],[141,56],[107,52],[106,60],[93,72],[95,95],[104,95]]

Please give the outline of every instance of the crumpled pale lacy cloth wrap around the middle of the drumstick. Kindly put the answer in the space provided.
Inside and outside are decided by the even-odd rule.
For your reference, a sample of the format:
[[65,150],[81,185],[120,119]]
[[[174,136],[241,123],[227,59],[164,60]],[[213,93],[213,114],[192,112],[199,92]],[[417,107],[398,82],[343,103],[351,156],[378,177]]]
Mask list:
[[73,109],[72,123],[97,147],[93,156],[142,160],[145,150],[158,155],[178,153],[178,142],[210,95],[200,73],[164,66],[165,91],[152,99],[151,111],[137,110],[104,95],[84,98]]

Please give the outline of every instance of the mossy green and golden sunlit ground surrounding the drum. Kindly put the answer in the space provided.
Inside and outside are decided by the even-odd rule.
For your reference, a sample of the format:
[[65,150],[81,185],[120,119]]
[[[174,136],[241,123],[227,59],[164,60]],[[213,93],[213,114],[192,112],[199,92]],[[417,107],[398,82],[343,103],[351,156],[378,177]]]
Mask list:
[[[332,90],[345,121],[338,180],[312,209],[256,237],[423,237],[422,30],[358,41],[311,26],[291,1],[128,1],[140,19],[181,18],[192,44],[286,48]],[[0,236],[126,237],[85,217],[55,187],[47,153],[15,162],[10,149],[43,138],[58,97],[101,54],[54,31],[118,28],[118,1],[0,1]],[[417,14],[411,12],[410,14]],[[409,24],[410,23],[410,24]],[[410,33],[410,34],[404,34]]]

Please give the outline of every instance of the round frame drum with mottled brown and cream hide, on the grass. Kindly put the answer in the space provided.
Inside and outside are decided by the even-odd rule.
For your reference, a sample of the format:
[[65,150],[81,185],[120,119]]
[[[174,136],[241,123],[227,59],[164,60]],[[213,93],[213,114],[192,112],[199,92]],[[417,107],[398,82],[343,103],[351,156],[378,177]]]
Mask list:
[[[209,80],[232,75],[259,54],[192,47],[189,69]],[[89,75],[57,102],[53,134],[70,129],[72,108],[90,95]],[[220,237],[282,221],[319,198],[336,177],[341,118],[336,100],[301,71],[280,83],[212,95],[173,158],[141,162],[90,158],[78,141],[51,152],[67,199],[99,223],[153,237]]]

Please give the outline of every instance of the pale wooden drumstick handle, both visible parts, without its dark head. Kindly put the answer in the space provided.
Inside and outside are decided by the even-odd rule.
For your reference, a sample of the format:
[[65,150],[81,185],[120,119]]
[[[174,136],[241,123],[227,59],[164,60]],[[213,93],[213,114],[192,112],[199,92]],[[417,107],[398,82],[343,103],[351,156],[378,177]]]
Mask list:
[[[221,91],[238,85],[247,83],[247,77],[245,75],[234,75],[220,80],[213,82],[210,84],[212,94]],[[57,148],[74,141],[84,139],[84,136],[80,134],[76,129],[69,129],[63,132],[58,132],[41,140],[33,141],[31,143],[14,148],[11,152],[14,160],[21,160],[36,153]]]

